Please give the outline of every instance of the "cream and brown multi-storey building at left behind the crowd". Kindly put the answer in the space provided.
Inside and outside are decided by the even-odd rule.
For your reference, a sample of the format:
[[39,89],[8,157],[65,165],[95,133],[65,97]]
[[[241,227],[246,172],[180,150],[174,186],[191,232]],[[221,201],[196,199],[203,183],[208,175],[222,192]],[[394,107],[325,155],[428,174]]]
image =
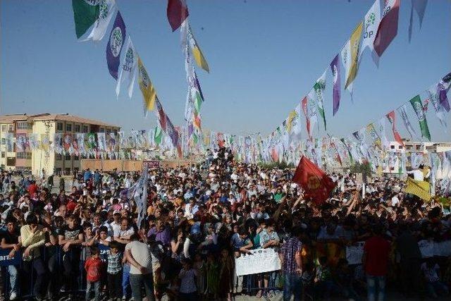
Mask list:
[[38,134],[53,140],[55,133],[117,133],[121,128],[102,121],[73,116],[68,113],[41,113],[37,115],[13,114],[0,116],[1,158],[0,165],[6,169],[28,170],[39,175],[44,168],[47,175],[70,174],[80,170],[80,158],[75,155],[61,155],[43,149],[17,152],[16,143],[8,145],[6,136],[13,135],[14,141],[20,136]]

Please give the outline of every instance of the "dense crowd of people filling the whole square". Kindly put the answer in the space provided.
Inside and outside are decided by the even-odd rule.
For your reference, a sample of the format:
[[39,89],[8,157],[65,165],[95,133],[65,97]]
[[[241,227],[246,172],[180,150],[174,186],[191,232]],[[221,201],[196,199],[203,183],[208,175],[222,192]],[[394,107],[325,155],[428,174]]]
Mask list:
[[[87,169],[53,193],[53,176],[3,171],[0,258],[11,264],[1,267],[1,293],[135,301],[449,294],[451,257],[424,258],[418,244],[451,239],[449,196],[424,202],[388,176],[371,178],[362,195],[355,174],[331,173],[337,185],[316,204],[292,176],[236,162],[224,148],[195,166],[151,168],[137,224],[130,191],[140,173]],[[350,264],[346,247],[359,242],[362,262]],[[235,276],[235,259],[261,248],[278,252],[281,269]]]

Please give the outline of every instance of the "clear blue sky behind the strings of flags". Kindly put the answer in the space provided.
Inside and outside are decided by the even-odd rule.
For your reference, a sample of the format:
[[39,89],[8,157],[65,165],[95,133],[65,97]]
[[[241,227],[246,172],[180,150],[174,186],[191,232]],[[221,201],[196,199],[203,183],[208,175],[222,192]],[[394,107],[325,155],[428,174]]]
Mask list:
[[[173,123],[183,125],[184,58],[180,30],[172,32],[166,18],[167,1],[116,1],[163,108]],[[411,2],[402,0],[397,37],[379,67],[366,52],[354,80],[354,102],[342,87],[340,111],[332,116],[330,61],[373,1],[187,0],[187,4],[192,31],[210,67],[210,73],[197,68],[205,97],[202,127],[209,130],[270,134],[328,68],[327,134],[343,137],[416,94],[426,97],[424,90],[451,71],[451,1],[428,1],[421,29],[414,15],[409,44]],[[137,80],[132,99],[125,93],[116,99],[116,80],[106,66],[109,31],[101,42],[78,42],[71,1],[2,0],[0,9],[1,114],[70,113],[120,125],[125,131],[154,128],[154,114],[143,116]],[[342,83],[343,77],[344,72]],[[407,110],[419,132],[412,107]],[[432,106],[427,118],[433,141],[451,141]],[[306,138],[303,116],[302,125]],[[390,126],[385,126],[393,140]],[[397,128],[407,137],[400,118]],[[326,132],[321,128],[315,135]]]

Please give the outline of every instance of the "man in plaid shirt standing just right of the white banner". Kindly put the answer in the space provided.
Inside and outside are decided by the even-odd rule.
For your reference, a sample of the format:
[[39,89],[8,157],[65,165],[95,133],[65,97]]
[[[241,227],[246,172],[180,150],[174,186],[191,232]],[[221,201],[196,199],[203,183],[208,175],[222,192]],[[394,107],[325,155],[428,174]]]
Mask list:
[[302,242],[299,236],[302,234],[301,228],[293,228],[291,236],[285,240],[280,248],[280,261],[283,272],[283,300],[291,299],[295,295],[295,301],[301,300],[302,295]]

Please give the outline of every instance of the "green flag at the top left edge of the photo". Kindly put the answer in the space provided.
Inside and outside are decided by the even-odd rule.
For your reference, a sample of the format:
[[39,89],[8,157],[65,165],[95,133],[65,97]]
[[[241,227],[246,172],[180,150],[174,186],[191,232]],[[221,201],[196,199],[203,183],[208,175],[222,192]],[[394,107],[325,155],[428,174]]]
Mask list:
[[86,30],[99,18],[98,0],[72,0],[73,19],[77,38],[85,35]]

